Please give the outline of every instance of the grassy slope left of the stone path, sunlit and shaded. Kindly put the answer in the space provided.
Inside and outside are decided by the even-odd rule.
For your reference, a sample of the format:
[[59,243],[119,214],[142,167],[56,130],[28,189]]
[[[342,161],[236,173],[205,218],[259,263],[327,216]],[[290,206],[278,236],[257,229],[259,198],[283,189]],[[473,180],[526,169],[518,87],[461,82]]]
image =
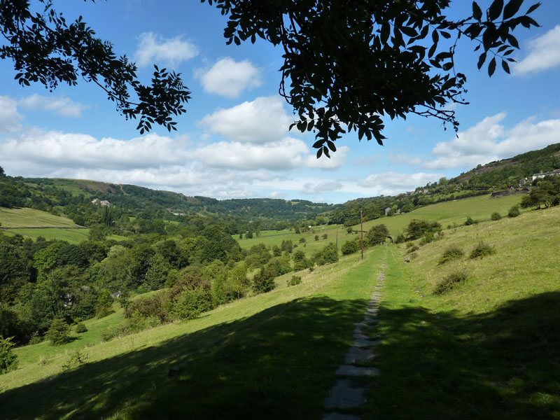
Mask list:
[[[13,419],[318,418],[383,252],[305,272],[300,286],[287,288],[288,274],[276,290],[194,321],[92,343],[88,363],[76,370],[61,366],[79,340],[46,363],[38,360],[45,344],[18,349],[22,365],[3,375],[0,405]],[[86,325],[94,335],[94,323],[113,321]],[[169,367],[185,360],[183,374],[167,378]]]

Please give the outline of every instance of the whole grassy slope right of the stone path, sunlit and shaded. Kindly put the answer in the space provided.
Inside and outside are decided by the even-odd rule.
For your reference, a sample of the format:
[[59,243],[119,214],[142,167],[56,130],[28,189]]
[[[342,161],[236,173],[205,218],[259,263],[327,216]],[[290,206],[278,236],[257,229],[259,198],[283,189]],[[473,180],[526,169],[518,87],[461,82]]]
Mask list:
[[[496,254],[438,265],[444,248]],[[369,419],[560,419],[560,209],[447,232],[409,265],[388,258],[381,375]],[[444,295],[449,272],[469,280]]]

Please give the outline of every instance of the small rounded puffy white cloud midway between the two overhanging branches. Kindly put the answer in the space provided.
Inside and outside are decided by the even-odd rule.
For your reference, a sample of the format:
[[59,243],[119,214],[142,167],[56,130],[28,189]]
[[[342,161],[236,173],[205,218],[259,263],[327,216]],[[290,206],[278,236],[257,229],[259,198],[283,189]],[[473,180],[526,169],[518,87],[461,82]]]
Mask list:
[[207,72],[197,71],[196,76],[204,92],[220,94],[228,98],[239,97],[243,90],[262,84],[260,71],[248,60],[236,62],[230,57],[218,60]]

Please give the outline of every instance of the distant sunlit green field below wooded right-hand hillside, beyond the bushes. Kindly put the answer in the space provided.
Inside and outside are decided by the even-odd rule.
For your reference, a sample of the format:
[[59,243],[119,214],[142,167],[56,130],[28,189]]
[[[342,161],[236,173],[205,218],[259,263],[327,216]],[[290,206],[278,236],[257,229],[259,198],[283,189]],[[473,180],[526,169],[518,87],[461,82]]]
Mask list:
[[[437,221],[442,225],[442,228],[447,229],[448,225],[454,225],[454,223],[462,225],[468,216],[474,220],[489,220],[494,211],[498,211],[502,216],[506,216],[510,207],[521,202],[521,195],[509,195],[501,198],[490,197],[490,195],[480,195],[463,200],[430,204],[407,214],[398,214],[368,221],[364,223],[363,228],[364,230],[370,230],[373,225],[384,223],[389,233],[396,236],[404,232],[413,218],[417,218]],[[354,229],[359,230],[359,225],[354,226]]]

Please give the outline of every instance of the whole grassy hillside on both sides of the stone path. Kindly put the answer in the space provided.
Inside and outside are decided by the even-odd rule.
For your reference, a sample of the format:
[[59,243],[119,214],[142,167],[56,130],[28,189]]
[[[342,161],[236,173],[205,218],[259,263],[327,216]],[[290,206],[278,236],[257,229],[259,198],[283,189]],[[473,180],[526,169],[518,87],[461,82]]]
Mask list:
[[[482,215],[514,198],[463,203]],[[454,213],[449,204],[419,210],[442,222]],[[471,259],[480,241],[494,253]],[[102,342],[102,331],[123,321],[116,306],[85,321],[89,331],[69,344],[17,349],[21,364],[3,374],[0,403],[12,418],[316,419],[386,253],[381,322],[372,330],[382,341],[367,362],[381,373],[361,379],[371,387],[368,402],[350,412],[365,419],[553,419],[560,414],[559,241],[560,207],[444,228],[408,264],[409,246],[377,246],[361,264],[352,254],[299,273],[299,286],[286,286],[286,274],[272,292]],[[440,263],[451,246],[463,256]],[[438,293],[455,272],[465,279]],[[76,349],[85,363],[62,370]],[[169,367],[184,361],[183,372],[168,378]]]

